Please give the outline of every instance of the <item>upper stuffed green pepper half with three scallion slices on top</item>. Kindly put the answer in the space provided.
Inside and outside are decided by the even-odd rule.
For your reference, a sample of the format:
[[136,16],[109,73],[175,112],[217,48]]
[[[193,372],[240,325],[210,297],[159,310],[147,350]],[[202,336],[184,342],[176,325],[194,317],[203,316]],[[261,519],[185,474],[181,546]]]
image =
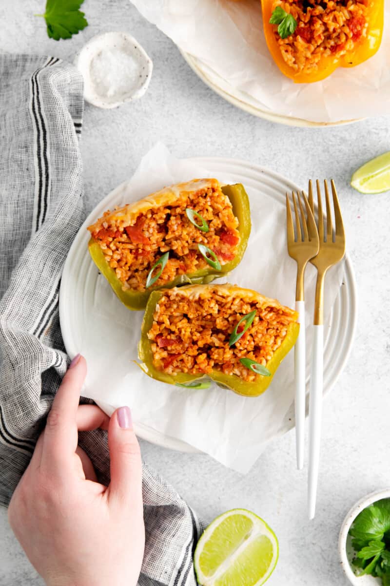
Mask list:
[[[89,253],[117,297],[143,309],[156,289],[208,283],[240,263],[251,230],[249,199],[240,183],[194,179],[106,212],[88,230]],[[153,240],[158,230],[161,243]]]

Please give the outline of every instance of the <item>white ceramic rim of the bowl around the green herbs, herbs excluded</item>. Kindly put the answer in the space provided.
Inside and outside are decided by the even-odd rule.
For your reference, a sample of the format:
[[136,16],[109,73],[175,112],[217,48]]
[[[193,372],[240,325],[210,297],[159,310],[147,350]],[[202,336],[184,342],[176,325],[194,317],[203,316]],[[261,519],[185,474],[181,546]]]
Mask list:
[[386,488],[379,490],[379,492],[371,492],[369,495],[364,496],[363,499],[358,500],[358,502],[348,511],[346,518],[341,525],[339,537],[341,566],[343,567],[346,577],[354,586],[378,586],[378,584],[382,583],[380,578],[374,578],[370,575],[356,576],[354,574],[353,567],[351,566],[354,550],[351,545],[351,538],[348,537],[348,531],[350,530],[351,524],[354,522],[358,514],[369,505],[372,505],[372,503],[381,499],[390,499],[390,489]]

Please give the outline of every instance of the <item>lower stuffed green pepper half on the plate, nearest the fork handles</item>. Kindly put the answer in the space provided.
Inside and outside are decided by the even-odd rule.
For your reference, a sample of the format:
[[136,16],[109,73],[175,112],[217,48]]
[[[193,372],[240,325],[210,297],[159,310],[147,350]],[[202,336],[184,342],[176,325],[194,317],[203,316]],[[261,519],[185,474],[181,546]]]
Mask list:
[[294,346],[297,319],[295,311],[275,299],[236,285],[160,289],[146,306],[140,367],[164,383],[196,389],[211,379],[256,397]]

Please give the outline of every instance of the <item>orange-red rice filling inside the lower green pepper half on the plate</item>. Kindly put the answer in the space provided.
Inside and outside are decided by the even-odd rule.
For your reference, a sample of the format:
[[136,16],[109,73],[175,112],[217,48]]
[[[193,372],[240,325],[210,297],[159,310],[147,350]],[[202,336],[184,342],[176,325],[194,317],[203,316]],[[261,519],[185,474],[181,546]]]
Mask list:
[[[253,323],[234,346],[229,338],[240,319],[256,309]],[[158,301],[148,333],[153,364],[172,373],[208,374],[221,370],[246,381],[261,377],[247,369],[240,358],[265,366],[283,342],[294,312],[287,307],[221,295],[215,289],[198,298],[166,291]]]

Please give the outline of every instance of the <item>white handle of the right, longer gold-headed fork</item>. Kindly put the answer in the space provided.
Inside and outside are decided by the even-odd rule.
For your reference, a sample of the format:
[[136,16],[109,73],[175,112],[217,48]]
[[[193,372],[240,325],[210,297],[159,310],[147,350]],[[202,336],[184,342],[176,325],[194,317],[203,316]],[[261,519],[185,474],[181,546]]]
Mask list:
[[313,362],[312,372],[310,376],[309,399],[309,519],[314,519],[316,512],[316,494],[320,460],[323,389],[323,325],[315,325],[313,326],[313,329]]

